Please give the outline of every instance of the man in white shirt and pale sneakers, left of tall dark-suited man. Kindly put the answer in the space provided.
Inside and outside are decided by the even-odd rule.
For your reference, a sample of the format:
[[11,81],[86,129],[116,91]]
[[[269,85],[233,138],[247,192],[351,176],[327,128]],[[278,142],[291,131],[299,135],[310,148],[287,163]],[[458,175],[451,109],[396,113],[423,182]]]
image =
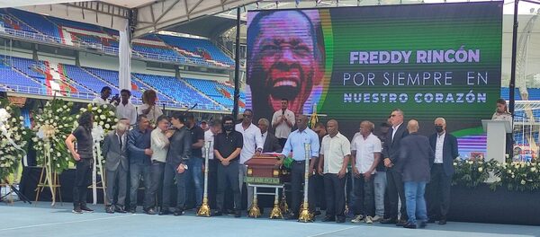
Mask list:
[[374,209],[374,174],[381,161],[381,140],[374,136],[374,123],[363,121],[360,123],[360,135],[353,139],[351,144],[355,184],[355,215],[352,223],[373,224]]

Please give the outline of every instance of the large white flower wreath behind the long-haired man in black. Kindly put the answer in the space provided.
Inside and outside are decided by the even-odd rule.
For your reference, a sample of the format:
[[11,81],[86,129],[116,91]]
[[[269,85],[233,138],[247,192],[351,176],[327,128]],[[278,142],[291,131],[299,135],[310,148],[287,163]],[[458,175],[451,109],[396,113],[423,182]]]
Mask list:
[[[73,116],[70,114],[72,102],[55,99],[48,101],[43,108],[43,113],[37,115],[36,125],[33,127],[36,136],[34,149],[36,150],[39,165],[45,164],[46,146],[49,146],[51,172],[61,173],[67,170],[71,157],[66,146],[66,137],[73,131]],[[61,109],[59,112],[58,110]],[[51,113],[55,111],[55,113]],[[59,154],[59,155],[58,155]]]

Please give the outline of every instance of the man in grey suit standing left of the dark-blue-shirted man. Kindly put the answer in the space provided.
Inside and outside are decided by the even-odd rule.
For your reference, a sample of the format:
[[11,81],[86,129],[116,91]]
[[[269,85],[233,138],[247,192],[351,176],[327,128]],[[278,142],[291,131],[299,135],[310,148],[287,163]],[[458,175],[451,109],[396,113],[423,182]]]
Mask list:
[[[109,132],[103,141],[107,186],[105,211],[111,214],[115,211],[126,213],[124,202],[127,194],[128,171],[130,169],[126,133],[128,127],[130,127],[130,119],[121,118],[116,124],[116,129]],[[117,202],[114,203],[116,189],[118,189],[118,198]]]

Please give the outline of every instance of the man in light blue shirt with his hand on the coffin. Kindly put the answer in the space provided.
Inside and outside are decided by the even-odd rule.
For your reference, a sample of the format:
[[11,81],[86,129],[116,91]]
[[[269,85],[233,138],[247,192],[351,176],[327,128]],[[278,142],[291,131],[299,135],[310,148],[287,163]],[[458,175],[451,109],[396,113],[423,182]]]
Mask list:
[[[291,198],[293,203],[291,203],[292,212],[287,219],[298,219],[300,213],[300,204],[302,203],[302,182],[304,181],[305,176],[305,161],[306,156],[311,157],[310,162],[310,181],[309,181],[309,191],[308,191],[308,202],[310,204],[310,210],[313,211],[315,207],[314,203],[314,182],[313,176],[315,169],[315,162],[319,157],[319,136],[308,128],[308,117],[305,115],[296,116],[296,126],[297,130],[293,131],[287,138],[287,142],[284,145],[284,151],[282,152],[282,158],[292,154],[293,164],[291,167]],[[305,144],[311,145],[310,154],[306,155]]]

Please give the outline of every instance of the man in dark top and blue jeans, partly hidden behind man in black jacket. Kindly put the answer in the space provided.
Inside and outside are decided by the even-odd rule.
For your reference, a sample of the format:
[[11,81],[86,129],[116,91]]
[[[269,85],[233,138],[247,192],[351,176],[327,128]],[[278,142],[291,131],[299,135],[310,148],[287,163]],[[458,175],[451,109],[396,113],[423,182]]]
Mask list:
[[[204,130],[195,124],[193,113],[188,113],[186,118],[187,120],[185,121],[185,126],[191,132],[192,137],[192,155],[191,159],[189,159],[189,162],[187,163],[187,166],[190,167],[186,174],[187,177],[189,177],[187,180],[187,190],[189,195],[189,192],[193,190],[192,187],[194,188],[194,201],[198,211],[199,207],[202,205],[202,192],[204,189],[204,187],[202,187],[204,185],[202,180],[202,145],[204,145]],[[191,185],[192,182],[193,186]],[[189,197],[193,196],[189,195]]]

